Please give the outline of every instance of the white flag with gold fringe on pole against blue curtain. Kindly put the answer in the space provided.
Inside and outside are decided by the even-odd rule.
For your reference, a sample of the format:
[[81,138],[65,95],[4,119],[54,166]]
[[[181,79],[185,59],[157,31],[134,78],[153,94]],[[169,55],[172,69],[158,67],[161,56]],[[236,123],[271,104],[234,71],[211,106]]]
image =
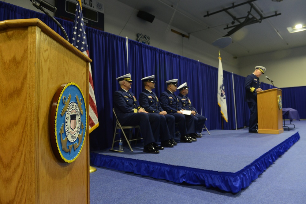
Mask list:
[[219,68],[218,68],[218,105],[221,108],[221,114],[224,120],[227,122],[227,106],[226,106],[226,95],[225,87],[223,83],[223,67],[219,52]]

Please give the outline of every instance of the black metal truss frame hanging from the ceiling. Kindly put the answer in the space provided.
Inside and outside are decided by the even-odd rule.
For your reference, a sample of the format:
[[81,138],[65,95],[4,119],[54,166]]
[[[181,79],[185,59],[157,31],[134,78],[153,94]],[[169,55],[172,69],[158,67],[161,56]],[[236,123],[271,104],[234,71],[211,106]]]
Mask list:
[[[252,2],[254,1],[257,1],[257,0],[248,0],[246,2],[243,2],[243,3],[240,3],[240,4],[237,4],[235,5],[234,3],[232,4],[232,6],[226,8],[226,9],[221,9],[219,11],[215,11],[213,13],[209,13],[207,11],[207,14],[204,15],[203,17],[208,17],[208,16],[211,16],[211,15],[214,15],[216,13],[220,13],[220,12],[225,12],[227,13],[228,15],[230,15],[230,17],[233,18],[233,21],[232,21],[232,26],[229,26],[227,25],[225,29],[229,29],[229,28],[233,28],[232,30],[230,30],[226,35],[224,35],[223,37],[226,37],[226,36],[230,36],[232,35],[233,33],[237,32],[239,29],[243,28],[244,26],[246,25],[251,25],[251,24],[254,24],[254,23],[261,23],[261,21],[263,19],[267,19],[267,18],[271,18],[271,17],[274,17],[274,16],[279,16],[281,15],[282,13],[277,13],[277,11],[275,11],[275,14],[274,15],[271,15],[271,16],[266,16],[264,17],[262,15],[262,13],[254,6],[254,4]],[[244,17],[239,17],[237,18],[236,16],[234,16],[233,14],[231,14],[228,10],[229,9],[233,9],[235,7],[238,7],[238,6],[242,6],[244,4],[249,4],[250,5],[250,10],[248,11],[248,14]],[[258,15],[259,17],[256,17],[255,15],[253,15],[251,12],[252,10],[254,10]],[[244,19],[242,21],[242,19]],[[236,21],[239,23],[237,25],[234,25],[236,23]]]

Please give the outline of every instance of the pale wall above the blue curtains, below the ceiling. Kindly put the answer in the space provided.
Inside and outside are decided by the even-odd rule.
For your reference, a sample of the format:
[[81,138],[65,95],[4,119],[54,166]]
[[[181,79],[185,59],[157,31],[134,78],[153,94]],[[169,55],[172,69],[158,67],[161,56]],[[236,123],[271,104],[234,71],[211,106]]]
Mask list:
[[[4,2],[39,11],[28,0],[4,0]],[[54,4],[54,0],[47,0],[47,2]],[[156,18],[153,23],[144,21],[136,16],[138,10],[117,0],[100,0],[100,2],[104,4],[106,32],[122,37],[127,36],[132,40],[137,40],[137,33],[142,33],[150,37],[151,46],[218,67],[218,48],[215,46],[192,35],[189,39],[183,38],[170,30],[173,28],[179,32],[182,31]],[[261,77],[261,81],[270,83],[264,78],[264,76],[269,76],[277,87],[295,87],[306,86],[304,80],[306,74],[305,50],[306,47],[300,47],[237,59],[222,50],[220,52],[223,69],[226,71],[247,76],[253,72],[255,66],[265,66],[267,72]]]

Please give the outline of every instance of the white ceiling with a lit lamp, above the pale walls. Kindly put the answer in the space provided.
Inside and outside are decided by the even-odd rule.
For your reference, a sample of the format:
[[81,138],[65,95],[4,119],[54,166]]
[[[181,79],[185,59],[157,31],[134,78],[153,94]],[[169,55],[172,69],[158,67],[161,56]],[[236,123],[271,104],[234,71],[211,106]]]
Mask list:
[[[306,31],[290,34],[287,27],[297,23],[306,24],[306,0],[118,0],[132,8],[142,10],[155,16],[171,26],[183,31],[183,34],[193,35],[207,43],[225,36],[231,29],[233,18],[222,11],[203,17],[233,5],[250,2],[259,10],[263,17],[281,15],[263,19],[261,23],[250,24],[234,32],[230,37],[232,43],[222,50],[241,57],[276,50],[306,46]],[[250,4],[244,4],[228,11],[235,17],[246,17]],[[251,13],[260,18],[252,9]],[[172,19],[173,17],[173,19]],[[252,17],[252,16],[250,16]],[[171,21],[172,19],[172,21]],[[240,19],[241,22],[244,19]],[[153,21],[154,22],[154,21]],[[234,25],[238,25],[236,21]],[[306,51],[306,50],[305,50]]]

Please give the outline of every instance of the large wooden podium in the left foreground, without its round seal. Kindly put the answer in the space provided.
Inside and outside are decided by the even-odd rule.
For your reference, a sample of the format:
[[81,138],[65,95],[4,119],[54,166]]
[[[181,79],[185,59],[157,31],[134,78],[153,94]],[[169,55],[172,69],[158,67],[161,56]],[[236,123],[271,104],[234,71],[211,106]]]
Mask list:
[[49,135],[58,88],[79,85],[89,105],[89,62],[39,19],[0,22],[0,203],[88,203],[89,134],[72,163],[59,161]]

